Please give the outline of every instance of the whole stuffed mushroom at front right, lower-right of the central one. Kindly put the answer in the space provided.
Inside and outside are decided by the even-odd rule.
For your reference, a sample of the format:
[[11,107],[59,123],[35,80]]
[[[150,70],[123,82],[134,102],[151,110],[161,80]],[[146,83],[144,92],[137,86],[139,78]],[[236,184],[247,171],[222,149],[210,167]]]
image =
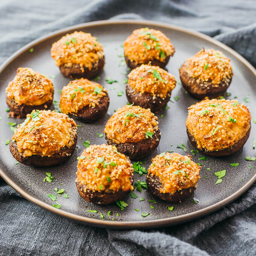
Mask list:
[[163,152],[152,158],[146,182],[156,197],[169,202],[180,202],[190,197],[200,179],[198,166],[189,155]]

